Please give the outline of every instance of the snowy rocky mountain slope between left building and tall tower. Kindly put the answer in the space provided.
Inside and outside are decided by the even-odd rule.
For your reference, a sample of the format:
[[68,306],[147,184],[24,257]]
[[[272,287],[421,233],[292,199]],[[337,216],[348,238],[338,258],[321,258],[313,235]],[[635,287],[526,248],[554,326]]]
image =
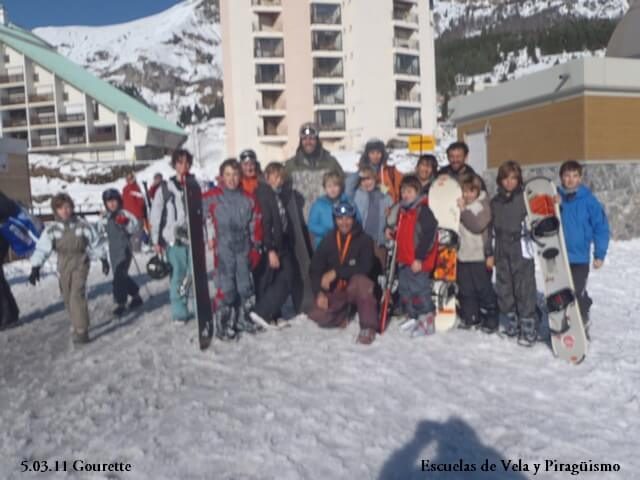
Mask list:
[[133,22],[106,27],[47,27],[35,33],[101,78],[135,85],[159,112],[215,103],[221,90],[217,2],[185,0]]

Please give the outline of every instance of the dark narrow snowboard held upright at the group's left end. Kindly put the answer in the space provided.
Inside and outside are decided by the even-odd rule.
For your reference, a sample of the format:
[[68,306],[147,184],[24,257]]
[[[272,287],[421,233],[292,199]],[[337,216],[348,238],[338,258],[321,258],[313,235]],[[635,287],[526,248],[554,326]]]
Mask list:
[[189,259],[191,261],[191,285],[195,299],[194,314],[198,326],[200,350],[205,350],[213,338],[213,305],[209,296],[207,276],[206,239],[204,235],[205,212],[202,190],[193,175],[185,180],[185,211],[189,234]]

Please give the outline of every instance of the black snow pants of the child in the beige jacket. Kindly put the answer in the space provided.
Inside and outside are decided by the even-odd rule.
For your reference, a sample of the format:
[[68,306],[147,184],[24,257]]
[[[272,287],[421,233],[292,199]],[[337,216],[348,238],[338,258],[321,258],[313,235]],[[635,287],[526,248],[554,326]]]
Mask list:
[[457,282],[459,314],[464,323],[473,325],[480,322],[480,310],[488,319],[497,319],[496,292],[484,262],[458,262]]

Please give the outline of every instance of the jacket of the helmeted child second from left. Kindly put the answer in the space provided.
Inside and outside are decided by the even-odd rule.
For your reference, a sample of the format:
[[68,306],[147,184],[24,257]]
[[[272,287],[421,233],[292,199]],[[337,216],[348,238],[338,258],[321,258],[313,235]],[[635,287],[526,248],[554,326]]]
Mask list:
[[98,235],[109,247],[111,266],[115,267],[131,258],[131,236],[140,228],[140,222],[124,209],[107,212],[98,222]]

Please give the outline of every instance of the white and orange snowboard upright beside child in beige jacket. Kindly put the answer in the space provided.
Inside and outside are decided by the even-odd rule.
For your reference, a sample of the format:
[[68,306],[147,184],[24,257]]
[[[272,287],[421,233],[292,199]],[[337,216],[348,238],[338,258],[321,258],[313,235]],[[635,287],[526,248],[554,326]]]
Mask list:
[[438,256],[433,271],[433,298],[436,305],[436,333],[457,325],[456,284],[458,231],[462,189],[449,175],[436,178],[429,190],[429,208],[438,221]]

